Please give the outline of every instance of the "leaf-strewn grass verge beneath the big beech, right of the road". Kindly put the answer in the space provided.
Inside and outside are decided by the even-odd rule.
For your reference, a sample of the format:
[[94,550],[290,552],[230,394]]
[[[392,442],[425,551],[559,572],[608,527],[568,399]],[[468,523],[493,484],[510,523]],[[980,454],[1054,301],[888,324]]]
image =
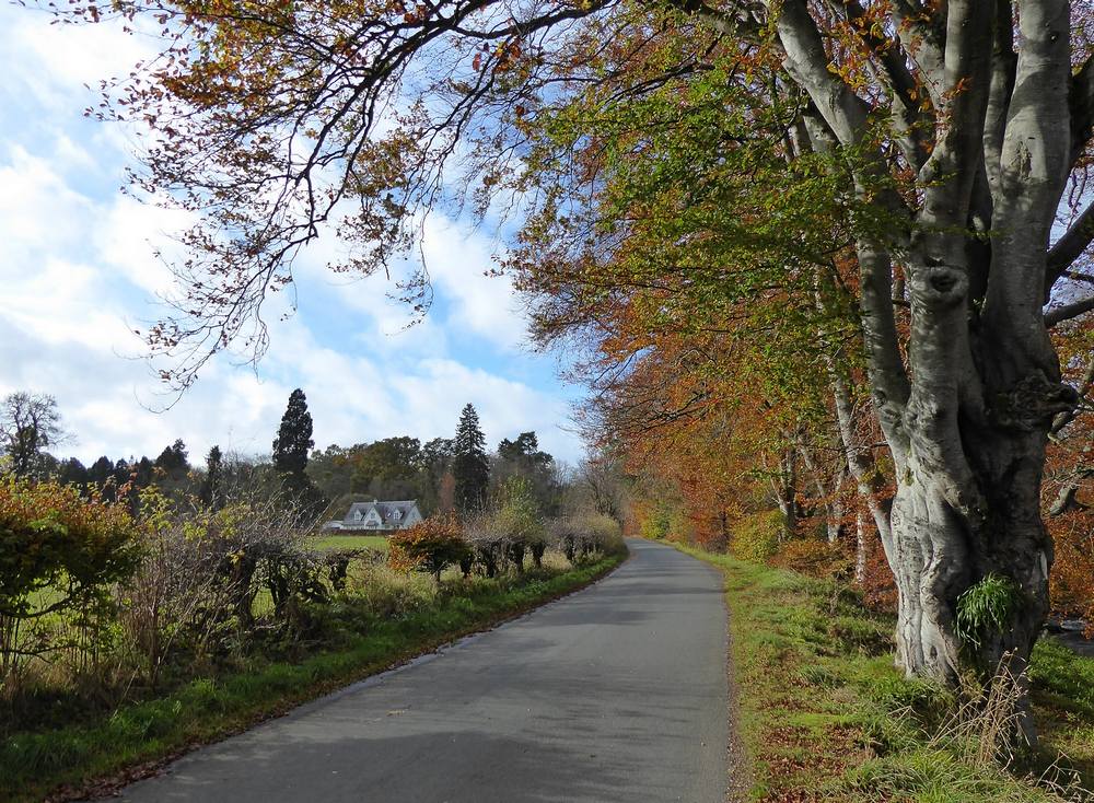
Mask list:
[[[675,546],[725,574],[737,736],[750,769],[745,799],[1090,800],[1051,788],[1071,780],[1058,767],[1039,779],[1008,772],[947,738],[952,695],[903,677],[893,666],[892,618],[865,610],[846,586]],[[1079,759],[1094,754],[1094,660],[1047,640],[1031,677],[1044,745],[1029,767],[1043,769],[1058,747]]]

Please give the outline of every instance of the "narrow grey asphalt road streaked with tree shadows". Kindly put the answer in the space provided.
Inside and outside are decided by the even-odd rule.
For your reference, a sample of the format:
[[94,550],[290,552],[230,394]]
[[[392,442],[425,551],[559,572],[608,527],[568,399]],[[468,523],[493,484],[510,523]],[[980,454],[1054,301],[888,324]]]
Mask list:
[[173,803],[723,803],[721,575],[629,542],[595,585],[191,753]]

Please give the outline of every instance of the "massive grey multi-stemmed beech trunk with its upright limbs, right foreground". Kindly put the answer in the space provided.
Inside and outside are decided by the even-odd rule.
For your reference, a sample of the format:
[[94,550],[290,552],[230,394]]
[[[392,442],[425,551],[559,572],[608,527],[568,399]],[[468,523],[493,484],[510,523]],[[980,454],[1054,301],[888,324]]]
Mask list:
[[[915,58],[878,51],[872,63],[891,90],[889,142],[917,179],[901,193],[876,146],[878,107],[830,69],[826,21],[805,0],[766,5],[783,65],[814,104],[812,147],[856,151],[858,198],[889,219],[884,232],[864,229],[856,253],[870,385],[896,472],[891,515],[874,512],[899,590],[898,663],[946,682],[1004,661],[1020,671],[1048,610],[1047,432],[1076,398],[1046,329],[1071,311],[1049,321],[1041,305],[1062,272],[1056,261],[1070,264],[1092,237],[1079,229],[1061,238],[1075,247],[1050,249],[1049,235],[1090,139],[1094,67],[1072,75],[1067,0],[951,0],[920,18],[893,4],[898,44]],[[896,299],[894,277],[907,288]],[[910,306],[906,335],[895,303]],[[1011,621],[962,643],[958,600],[992,573],[1017,589]]]

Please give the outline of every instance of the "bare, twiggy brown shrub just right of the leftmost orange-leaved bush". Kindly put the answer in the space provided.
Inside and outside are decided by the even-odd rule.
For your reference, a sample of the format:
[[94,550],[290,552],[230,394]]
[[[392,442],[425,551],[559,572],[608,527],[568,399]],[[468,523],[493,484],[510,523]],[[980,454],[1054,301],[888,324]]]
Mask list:
[[128,643],[154,687],[164,664],[205,664],[256,635],[255,600],[269,595],[264,632],[314,628],[307,605],[328,598],[324,556],[310,550],[299,516],[280,498],[241,493],[220,510],[179,510],[159,489],[141,493],[143,558],[118,589]]

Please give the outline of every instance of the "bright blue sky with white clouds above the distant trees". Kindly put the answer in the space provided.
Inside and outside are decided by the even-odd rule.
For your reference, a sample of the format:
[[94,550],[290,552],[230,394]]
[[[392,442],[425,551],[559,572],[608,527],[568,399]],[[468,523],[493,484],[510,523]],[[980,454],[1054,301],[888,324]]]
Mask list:
[[525,345],[520,302],[487,278],[491,232],[434,216],[423,249],[433,310],[406,327],[382,277],[327,272],[321,242],[298,265],[298,313],[269,316],[272,342],[257,374],[218,359],[173,407],[132,329],[158,317],[171,277],[155,247],[186,221],[118,190],[130,136],[85,119],[97,103],[84,84],[128,71],[147,47],[112,26],[51,25],[42,12],[0,4],[0,394],[49,393],[74,435],[58,450],[89,462],[158,454],[183,438],[191,459],[213,443],[269,451],[293,387],[304,388],[315,442],[351,444],[396,434],[451,435],[461,407],[479,410],[496,445],[534,429],[573,462],[569,431],[578,391],[557,380],[556,358]]

